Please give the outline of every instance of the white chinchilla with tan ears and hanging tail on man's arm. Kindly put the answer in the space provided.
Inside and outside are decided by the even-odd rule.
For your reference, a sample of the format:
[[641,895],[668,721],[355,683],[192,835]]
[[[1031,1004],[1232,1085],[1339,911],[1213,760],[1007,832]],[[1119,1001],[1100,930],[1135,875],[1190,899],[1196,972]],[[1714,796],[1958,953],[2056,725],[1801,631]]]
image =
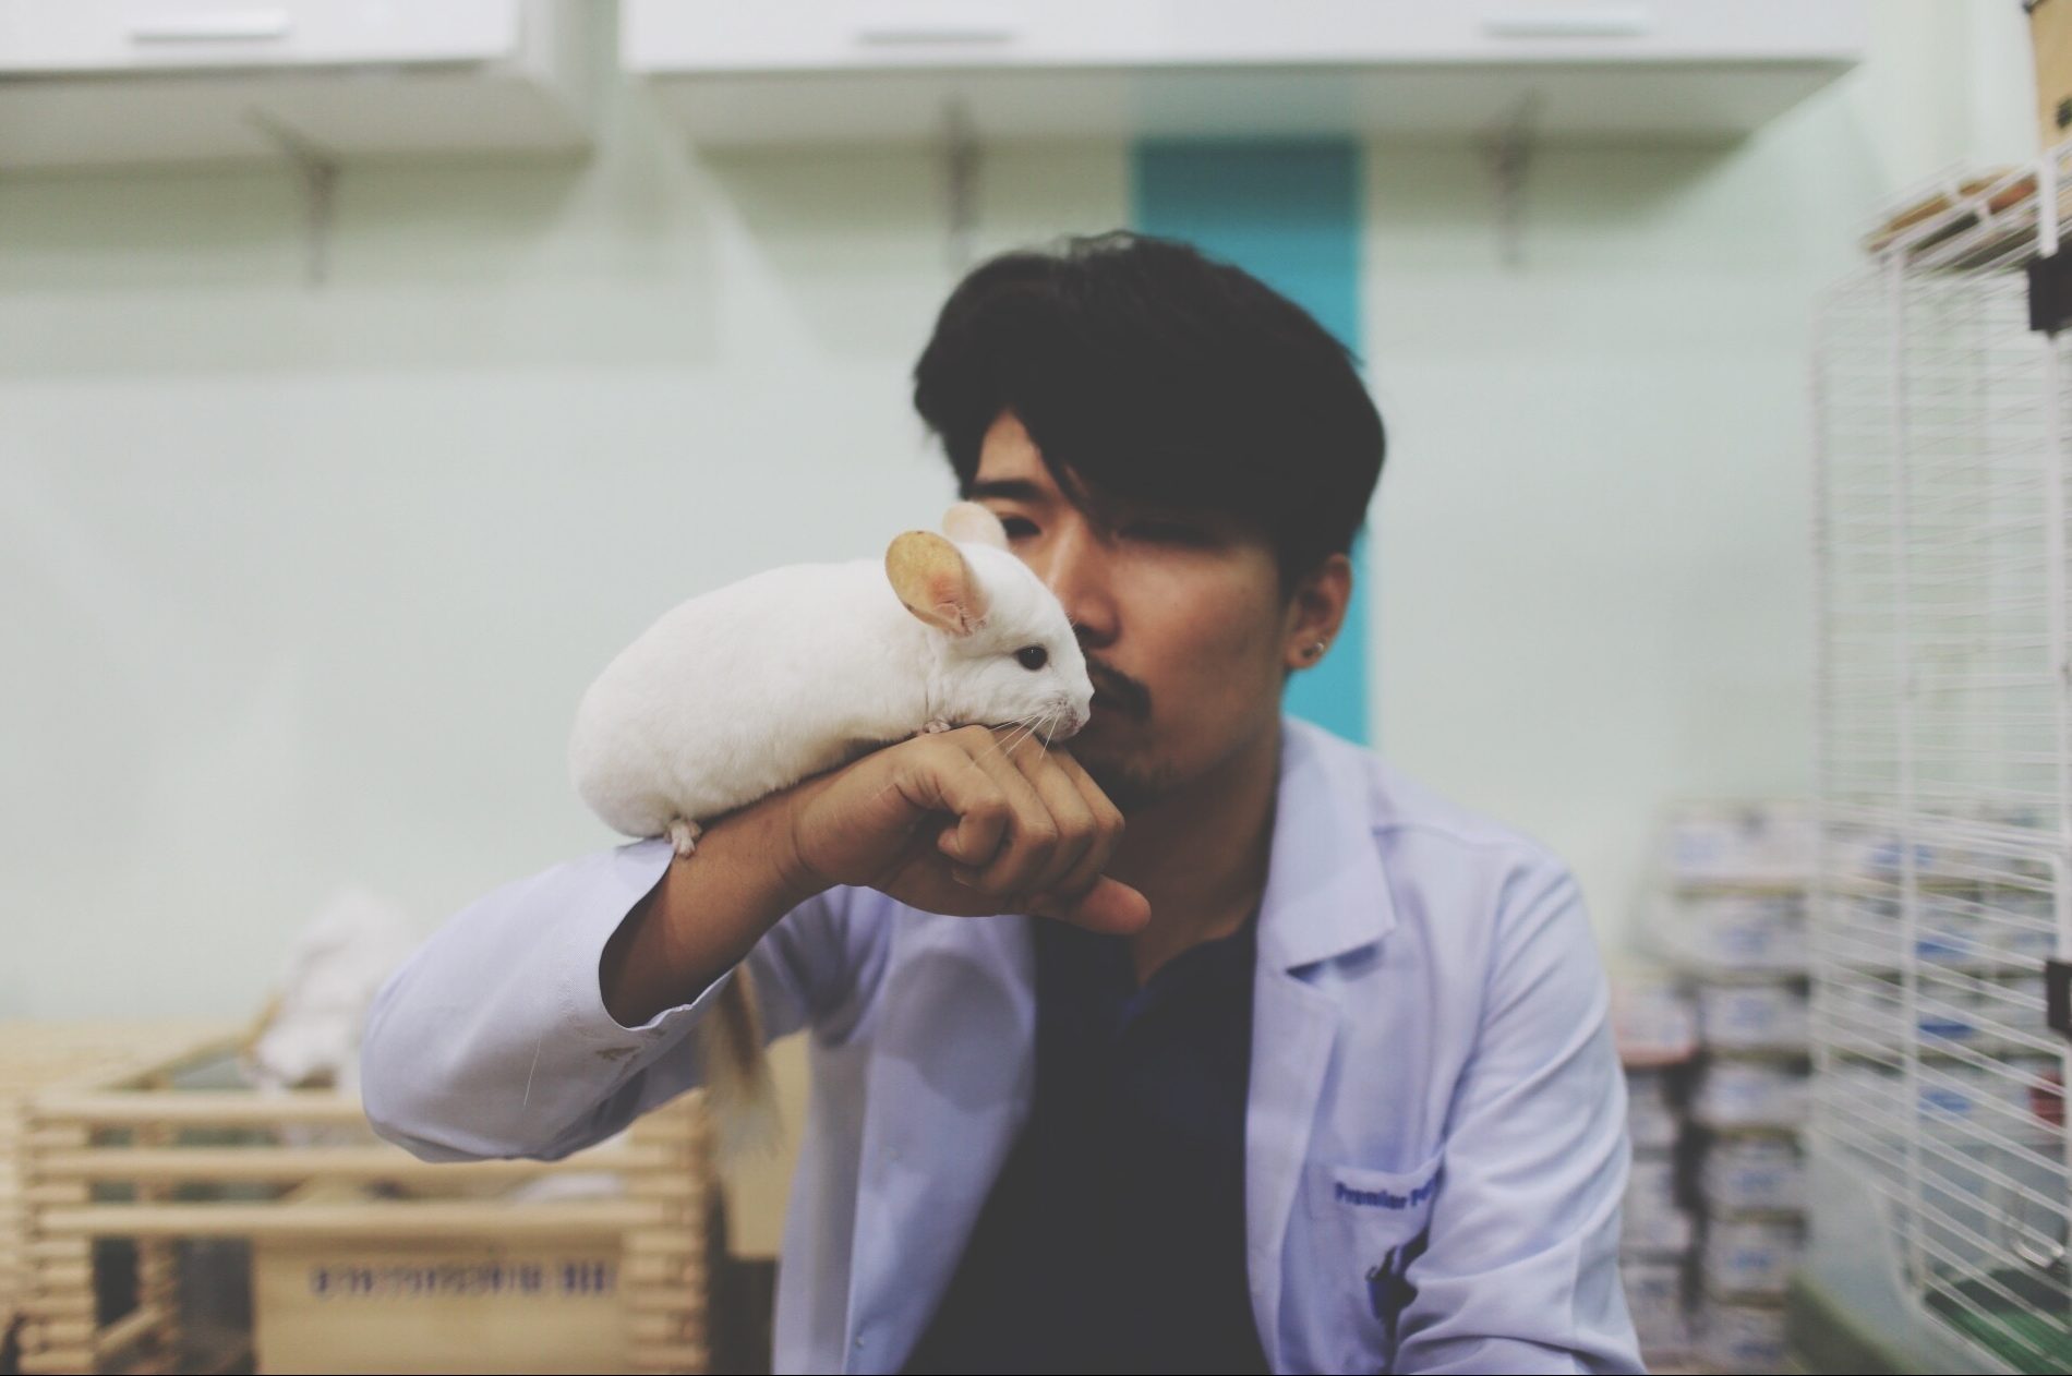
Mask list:
[[[1059,740],[1092,698],[1057,597],[992,512],[959,501],[943,535],[908,531],[883,562],[773,568],[663,613],[582,694],[568,767],[605,825],[688,856],[700,823],[879,746],[970,723]],[[746,966],[700,1051],[723,1142],[769,1142]]]

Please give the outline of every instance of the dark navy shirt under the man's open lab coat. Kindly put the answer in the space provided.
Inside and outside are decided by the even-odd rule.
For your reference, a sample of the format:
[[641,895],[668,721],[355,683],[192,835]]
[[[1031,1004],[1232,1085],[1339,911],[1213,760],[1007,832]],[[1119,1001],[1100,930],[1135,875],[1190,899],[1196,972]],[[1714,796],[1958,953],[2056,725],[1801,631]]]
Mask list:
[[1138,988],[1036,920],[1036,1102],[908,1372],[1264,1372],[1245,1283],[1258,914]]

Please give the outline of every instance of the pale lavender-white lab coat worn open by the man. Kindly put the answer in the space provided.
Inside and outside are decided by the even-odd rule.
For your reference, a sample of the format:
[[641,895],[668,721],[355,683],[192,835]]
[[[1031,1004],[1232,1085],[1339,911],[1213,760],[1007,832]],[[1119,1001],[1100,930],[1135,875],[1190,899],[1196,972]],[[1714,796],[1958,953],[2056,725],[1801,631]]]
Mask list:
[[[632,1030],[597,982],[667,862],[622,845],[448,922],[369,1017],[381,1136],[564,1156],[696,1084],[686,1032],[723,980]],[[934,1314],[1030,1113],[1030,922],[833,889],[750,951],[767,1032],[812,1038],[777,1370],[895,1372]],[[1641,1370],[1606,980],[1544,848],[1285,719],[1251,1047],[1245,1270],[1276,1372]],[[1423,1229],[1390,1347],[1368,1277]]]

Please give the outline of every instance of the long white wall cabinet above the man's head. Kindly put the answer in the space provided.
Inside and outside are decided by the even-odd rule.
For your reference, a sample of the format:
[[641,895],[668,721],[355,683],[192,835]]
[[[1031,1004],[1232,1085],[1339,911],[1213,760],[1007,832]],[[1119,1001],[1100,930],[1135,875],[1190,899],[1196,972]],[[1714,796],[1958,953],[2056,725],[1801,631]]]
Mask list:
[[624,0],[707,147],[976,137],[1745,135],[1854,66],[1863,0]]

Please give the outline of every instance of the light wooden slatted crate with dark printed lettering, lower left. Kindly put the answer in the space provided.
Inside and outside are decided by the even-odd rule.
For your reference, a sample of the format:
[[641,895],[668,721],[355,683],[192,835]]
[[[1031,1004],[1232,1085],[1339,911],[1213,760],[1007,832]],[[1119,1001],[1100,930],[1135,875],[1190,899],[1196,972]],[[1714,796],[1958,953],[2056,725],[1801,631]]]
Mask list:
[[[707,1368],[698,1094],[566,1160],[433,1165],[373,1138],[356,1096],[193,1088],[230,1040],[19,1102],[23,1372],[197,1361],[176,1266],[180,1239],[207,1237],[253,1248],[261,1372]],[[508,1194],[576,1173],[617,1192]],[[95,1312],[102,1239],[137,1248],[137,1303],[112,1322]]]

